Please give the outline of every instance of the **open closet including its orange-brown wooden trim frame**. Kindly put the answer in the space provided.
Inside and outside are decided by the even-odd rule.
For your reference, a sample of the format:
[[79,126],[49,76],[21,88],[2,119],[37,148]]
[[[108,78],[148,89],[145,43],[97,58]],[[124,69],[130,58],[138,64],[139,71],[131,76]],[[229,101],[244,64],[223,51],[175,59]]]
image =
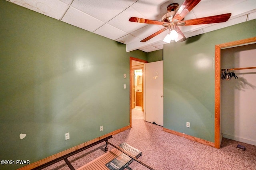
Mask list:
[[[246,110],[245,108],[246,105],[255,107],[250,98],[256,91],[256,69],[254,68],[256,65],[252,65],[256,64],[256,56],[246,54],[250,50],[256,50],[255,43],[256,37],[253,37],[215,46],[215,148],[220,148],[222,137],[237,141],[242,139],[240,142],[249,144],[253,143],[243,138],[249,137],[251,142],[256,141],[255,130],[250,129],[252,127],[246,127],[256,120],[255,109]],[[244,54],[239,51],[243,51]],[[230,77],[226,74],[226,79],[223,79],[225,71]],[[246,128],[247,130],[244,130]],[[248,134],[249,131],[252,133]]]

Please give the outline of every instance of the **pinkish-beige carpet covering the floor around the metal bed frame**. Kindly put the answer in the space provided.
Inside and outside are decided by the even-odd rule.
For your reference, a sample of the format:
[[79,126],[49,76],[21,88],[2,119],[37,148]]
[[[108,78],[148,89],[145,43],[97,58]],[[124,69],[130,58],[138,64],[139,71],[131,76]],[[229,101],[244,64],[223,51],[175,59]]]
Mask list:
[[[222,140],[220,149],[206,146],[144,122],[143,112],[135,109],[132,110],[132,128],[114,135],[109,142],[115,145],[126,142],[141,150],[139,160],[155,170],[256,170],[256,146],[226,138]],[[237,144],[246,146],[246,150],[238,150]],[[79,168],[104,154],[104,147],[104,143],[98,144],[68,160],[74,168]],[[69,170],[64,161],[45,168],[59,169]],[[148,170],[138,162],[133,162],[127,169]]]

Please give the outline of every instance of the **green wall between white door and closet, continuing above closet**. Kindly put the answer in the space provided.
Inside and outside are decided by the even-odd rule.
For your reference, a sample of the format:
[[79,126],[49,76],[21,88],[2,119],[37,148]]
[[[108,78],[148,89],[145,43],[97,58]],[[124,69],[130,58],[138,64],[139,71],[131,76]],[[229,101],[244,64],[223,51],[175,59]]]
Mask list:
[[165,128],[214,142],[215,45],[254,36],[251,20],[164,45]]

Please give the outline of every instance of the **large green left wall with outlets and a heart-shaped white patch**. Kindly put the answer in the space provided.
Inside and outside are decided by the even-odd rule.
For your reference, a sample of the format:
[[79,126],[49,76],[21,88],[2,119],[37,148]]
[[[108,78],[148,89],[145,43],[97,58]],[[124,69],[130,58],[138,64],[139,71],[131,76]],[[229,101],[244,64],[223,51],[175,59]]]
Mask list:
[[146,52],[0,0],[0,160],[36,162],[128,126],[130,56],[146,60]]

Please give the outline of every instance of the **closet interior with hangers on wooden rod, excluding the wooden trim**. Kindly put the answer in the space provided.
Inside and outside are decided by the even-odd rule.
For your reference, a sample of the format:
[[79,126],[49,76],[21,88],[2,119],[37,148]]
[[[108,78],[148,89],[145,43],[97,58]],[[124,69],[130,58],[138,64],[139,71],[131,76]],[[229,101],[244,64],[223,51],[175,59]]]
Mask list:
[[[221,134],[256,146],[256,44],[221,50]],[[226,75],[226,76],[225,76]]]

